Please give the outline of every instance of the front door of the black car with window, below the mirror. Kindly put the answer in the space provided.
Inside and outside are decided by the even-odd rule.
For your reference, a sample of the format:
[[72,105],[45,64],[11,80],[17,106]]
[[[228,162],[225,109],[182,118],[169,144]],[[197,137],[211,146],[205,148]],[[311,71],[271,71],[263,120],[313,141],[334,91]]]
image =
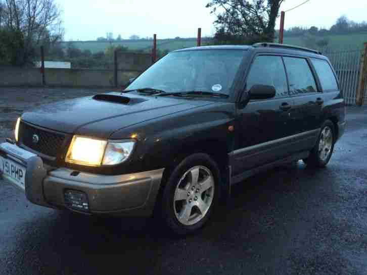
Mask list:
[[255,84],[271,85],[276,96],[251,100],[238,109],[239,141],[233,152],[233,175],[240,174],[288,154],[287,140],[293,101],[288,94],[287,78],[282,57],[255,57],[246,79],[246,92]]

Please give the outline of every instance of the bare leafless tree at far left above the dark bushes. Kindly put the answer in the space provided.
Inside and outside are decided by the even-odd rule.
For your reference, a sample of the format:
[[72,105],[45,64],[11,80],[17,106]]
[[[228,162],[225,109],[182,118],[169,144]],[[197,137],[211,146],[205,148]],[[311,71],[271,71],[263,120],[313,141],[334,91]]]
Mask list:
[[35,47],[62,39],[62,11],[55,0],[5,0],[3,3],[3,24],[10,31],[22,34],[24,63],[30,61]]

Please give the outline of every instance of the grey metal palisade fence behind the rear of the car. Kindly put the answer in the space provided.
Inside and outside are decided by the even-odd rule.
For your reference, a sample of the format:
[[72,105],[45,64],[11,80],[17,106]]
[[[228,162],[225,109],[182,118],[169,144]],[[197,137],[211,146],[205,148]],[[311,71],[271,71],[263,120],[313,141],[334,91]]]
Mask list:
[[[355,105],[362,50],[346,49],[342,51],[331,51],[324,49],[322,52],[329,58],[335,69],[345,102],[349,105]],[[367,96],[365,96],[363,102],[363,104],[367,104]]]

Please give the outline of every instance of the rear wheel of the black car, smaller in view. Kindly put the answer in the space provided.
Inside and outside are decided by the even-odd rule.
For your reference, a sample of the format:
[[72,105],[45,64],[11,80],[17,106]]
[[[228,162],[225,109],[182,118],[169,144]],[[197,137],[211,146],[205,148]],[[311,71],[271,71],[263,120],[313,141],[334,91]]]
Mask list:
[[336,138],[334,124],[326,120],[320,129],[315,147],[311,150],[310,155],[303,159],[303,162],[310,167],[326,167],[334,151]]

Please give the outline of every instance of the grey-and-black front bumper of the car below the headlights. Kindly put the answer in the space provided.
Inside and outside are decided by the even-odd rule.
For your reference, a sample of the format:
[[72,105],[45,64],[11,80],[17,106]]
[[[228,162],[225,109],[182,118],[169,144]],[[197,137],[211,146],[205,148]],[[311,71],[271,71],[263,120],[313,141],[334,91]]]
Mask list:
[[[23,188],[10,182],[22,188],[32,203],[78,211],[65,202],[65,192],[72,190],[87,196],[88,210],[83,213],[117,216],[150,216],[153,213],[164,169],[118,176],[82,173],[66,168],[54,169],[45,166],[39,156],[22,157],[19,152],[24,150],[16,145],[12,145],[16,150],[1,145],[2,156],[13,160],[16,158],[17,162],[26,167]],[[9,148],[9,143],[7,145]]]

